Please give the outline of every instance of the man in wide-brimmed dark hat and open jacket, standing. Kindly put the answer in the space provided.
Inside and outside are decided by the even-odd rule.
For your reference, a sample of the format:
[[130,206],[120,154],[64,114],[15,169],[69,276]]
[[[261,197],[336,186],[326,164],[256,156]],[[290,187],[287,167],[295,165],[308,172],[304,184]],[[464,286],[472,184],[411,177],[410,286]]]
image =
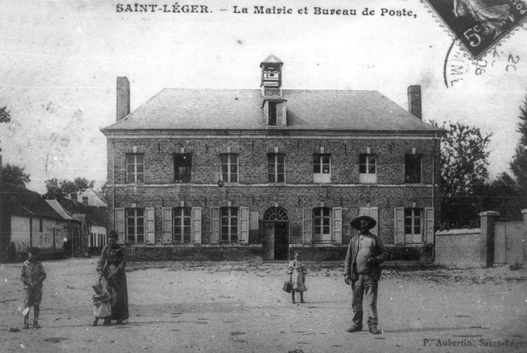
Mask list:
[[359,234],[350,240],[344,262],[344,282],[351,284],[353,292],[353,325],[348,332],[362,330],[362,299],[366,295],[369,331],[372,334],[381,333],[377,328],[377,290],[381,277],[380,264],[388,258],[388,252],[381,239],[370,233],[376,224],[370,216],[359,216],[350,223],[352,228],[359,230]]

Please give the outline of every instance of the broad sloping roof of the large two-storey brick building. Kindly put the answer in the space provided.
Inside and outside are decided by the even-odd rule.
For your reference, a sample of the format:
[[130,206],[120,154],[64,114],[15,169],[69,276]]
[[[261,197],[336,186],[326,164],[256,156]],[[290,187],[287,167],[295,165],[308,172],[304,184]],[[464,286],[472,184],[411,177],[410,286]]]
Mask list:
[[[377,91],[283,90],[285,130],[421,132],[442,130]],[[260,90],[161,90],[103,132],[116,130],[270,130]]]

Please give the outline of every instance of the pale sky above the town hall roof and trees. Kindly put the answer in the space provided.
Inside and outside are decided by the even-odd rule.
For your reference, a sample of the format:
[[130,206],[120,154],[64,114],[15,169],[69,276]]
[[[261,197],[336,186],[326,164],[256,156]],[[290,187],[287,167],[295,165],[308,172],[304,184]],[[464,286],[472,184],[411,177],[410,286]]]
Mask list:
[[[170,2],[134,1],[130,4]],[[408,85],[422,90],[423,119],[459,121],[493,134],[490,176],[508,169],[527,95],[527,25],[479,61],[419,0],[216,1],[206,13],[119,12],[110,0],[6,0],[0,13],[2,161],[47,179],[106,182],[106,137],[115,122],[116,78],[130,80],[131,108],[163,88],[259,88],[259,63],[284,61],[286,89],[378,90],[407,108]],[[247,14],[233,8],[248,8]],[[292,14],[254,14],[254,6]],[[315,14],[315,7],[356,15]],[[308,14],[299,14],[299,9]],[[375,10],[367,16],[365,8]],[[381,8],[412,16],[381,16]],[[448,83],[448,84],[446,84]]]

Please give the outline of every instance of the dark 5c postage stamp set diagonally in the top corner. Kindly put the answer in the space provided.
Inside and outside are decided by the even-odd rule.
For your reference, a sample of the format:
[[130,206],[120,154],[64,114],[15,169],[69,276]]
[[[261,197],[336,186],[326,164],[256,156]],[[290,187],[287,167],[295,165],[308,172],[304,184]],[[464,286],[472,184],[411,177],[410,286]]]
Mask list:
[[473,59],[493,48],[527,17],[527,5],[521,0],[425,1]]

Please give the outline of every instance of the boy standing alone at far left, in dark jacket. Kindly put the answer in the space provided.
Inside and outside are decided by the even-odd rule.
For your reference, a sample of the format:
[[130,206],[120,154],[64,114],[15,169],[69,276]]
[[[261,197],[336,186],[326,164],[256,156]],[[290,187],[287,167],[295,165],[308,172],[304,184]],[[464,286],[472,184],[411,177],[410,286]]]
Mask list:
[[28,249],[28,259],[22,265],[20,280],[24,285],[23,328],[29,328],[29,310],[33,307],[33,327],[40,328],[39,314],[42,300],[42,282],[46,279],[43,265],[38,261],[39,248]]

